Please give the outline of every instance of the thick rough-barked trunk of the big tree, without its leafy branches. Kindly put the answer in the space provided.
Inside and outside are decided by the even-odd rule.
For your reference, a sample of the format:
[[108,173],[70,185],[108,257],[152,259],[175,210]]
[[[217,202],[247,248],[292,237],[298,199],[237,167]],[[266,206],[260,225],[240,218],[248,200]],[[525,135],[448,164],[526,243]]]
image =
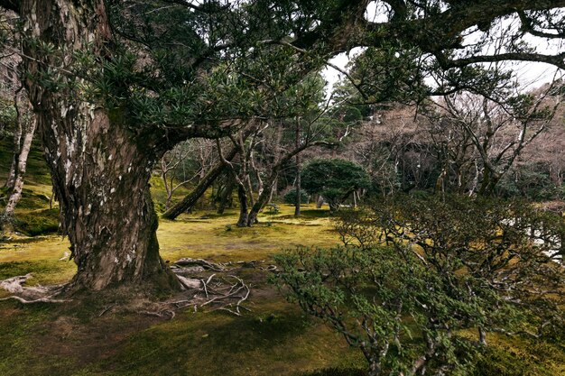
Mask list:
[[[23,0],[20,14],[29,33],[23,49],[25,85],[60,202],[61,225],[79,267],[71,286],[100,290],[143,281],[147,287],[179,289],[159,256],[148,184],[164,150],[150,135],[130,132],[124,111],[89,104],[72,91],[76,86],[64,85],[78,79],[65,73],[73,52],[86,48],[83,43],[97,59],[105,59],[111,33],[104,1]],[[56,53],[46,54],[37,40]],[[45,76],[61,85],[43,87],[38,78]]]

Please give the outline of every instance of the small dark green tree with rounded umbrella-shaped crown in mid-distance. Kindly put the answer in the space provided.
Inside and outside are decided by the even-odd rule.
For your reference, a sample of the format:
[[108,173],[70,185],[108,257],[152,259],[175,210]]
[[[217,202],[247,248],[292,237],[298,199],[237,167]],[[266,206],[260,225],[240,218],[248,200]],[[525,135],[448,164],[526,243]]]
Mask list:
[[302,188],[319,194],[335,211],[347,197],[361,188],[369,188],[371,180],[363,167],[351,160],[312,160],[301,173]]

